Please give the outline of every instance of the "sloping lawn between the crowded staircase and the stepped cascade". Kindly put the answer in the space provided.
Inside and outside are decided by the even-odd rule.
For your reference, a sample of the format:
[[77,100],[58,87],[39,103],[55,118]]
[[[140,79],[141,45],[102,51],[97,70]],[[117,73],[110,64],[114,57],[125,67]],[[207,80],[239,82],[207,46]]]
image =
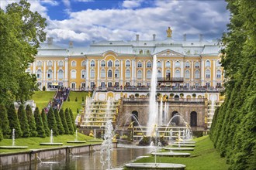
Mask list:
[[[88,96],[87,92],[77,92],[77,91],[71,91],[69,94],[70,101],[65,101],[64,104],[62,105],[62,108],[65,110],[66,108],[70,108],[74,114],[74,117],[77,115],[77,108],[78,110],[81,110],[81,107],[85,101],[82,101],[82,97],[86,99]],[[78,101],[75,101],[75,98],[78,98]]]

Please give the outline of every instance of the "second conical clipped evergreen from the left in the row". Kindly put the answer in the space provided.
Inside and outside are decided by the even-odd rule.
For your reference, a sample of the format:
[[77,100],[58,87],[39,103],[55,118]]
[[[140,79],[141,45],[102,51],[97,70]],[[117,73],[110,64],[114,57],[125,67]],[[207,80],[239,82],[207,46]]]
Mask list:
[[9,120],[10,129],[11,129],[11,134],[12,134],[12,130],[15,129],[15,137],[21,138],[22,130],[20,128],[19,119],[18,119],[18,115],[16,114],[14,104],[9,105],[7,114],[8,114],[8,120]]

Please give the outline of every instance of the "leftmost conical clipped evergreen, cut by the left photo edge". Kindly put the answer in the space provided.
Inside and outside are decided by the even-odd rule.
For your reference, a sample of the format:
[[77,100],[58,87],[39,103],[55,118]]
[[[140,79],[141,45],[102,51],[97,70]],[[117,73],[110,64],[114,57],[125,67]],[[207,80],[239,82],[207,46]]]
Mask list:
[[5,138],[9,138],[11,129],[9,127],[7,110],[4,104],[0,104],[0,128],[2,128],[2,134]]

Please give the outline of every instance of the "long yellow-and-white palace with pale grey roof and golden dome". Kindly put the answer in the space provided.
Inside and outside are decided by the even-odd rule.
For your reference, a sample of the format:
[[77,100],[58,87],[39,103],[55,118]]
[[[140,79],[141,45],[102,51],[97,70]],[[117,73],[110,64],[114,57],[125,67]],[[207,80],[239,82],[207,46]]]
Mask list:
[[64,48],[48,38],[40,44],[29,73],[35,73],[40,89],[56,85],[85,90],[92,87],[149,87],[153,56],[157,56],[160,87],[222,87],[223,68],[216,40],[190,41],[171,38],[92,42]]

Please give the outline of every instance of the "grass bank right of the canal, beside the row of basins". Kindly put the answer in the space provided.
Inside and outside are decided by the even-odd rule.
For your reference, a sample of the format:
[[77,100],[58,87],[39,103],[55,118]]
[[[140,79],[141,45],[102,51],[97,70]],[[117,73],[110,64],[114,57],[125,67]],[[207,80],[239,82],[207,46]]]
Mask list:
[[[213,148],[213,143],[210,141],[209,136],[196,138],[195,141],[197,142],[194,151],[175,151],[191,153],[190,157],[157,157],[157,162],[183,164],[186,165],[186,170],[229,168],[229,165],[226,164],[226,159],[220,158],[220,153]],[[154,162],[154,157],[141,158],[136,162]]]

